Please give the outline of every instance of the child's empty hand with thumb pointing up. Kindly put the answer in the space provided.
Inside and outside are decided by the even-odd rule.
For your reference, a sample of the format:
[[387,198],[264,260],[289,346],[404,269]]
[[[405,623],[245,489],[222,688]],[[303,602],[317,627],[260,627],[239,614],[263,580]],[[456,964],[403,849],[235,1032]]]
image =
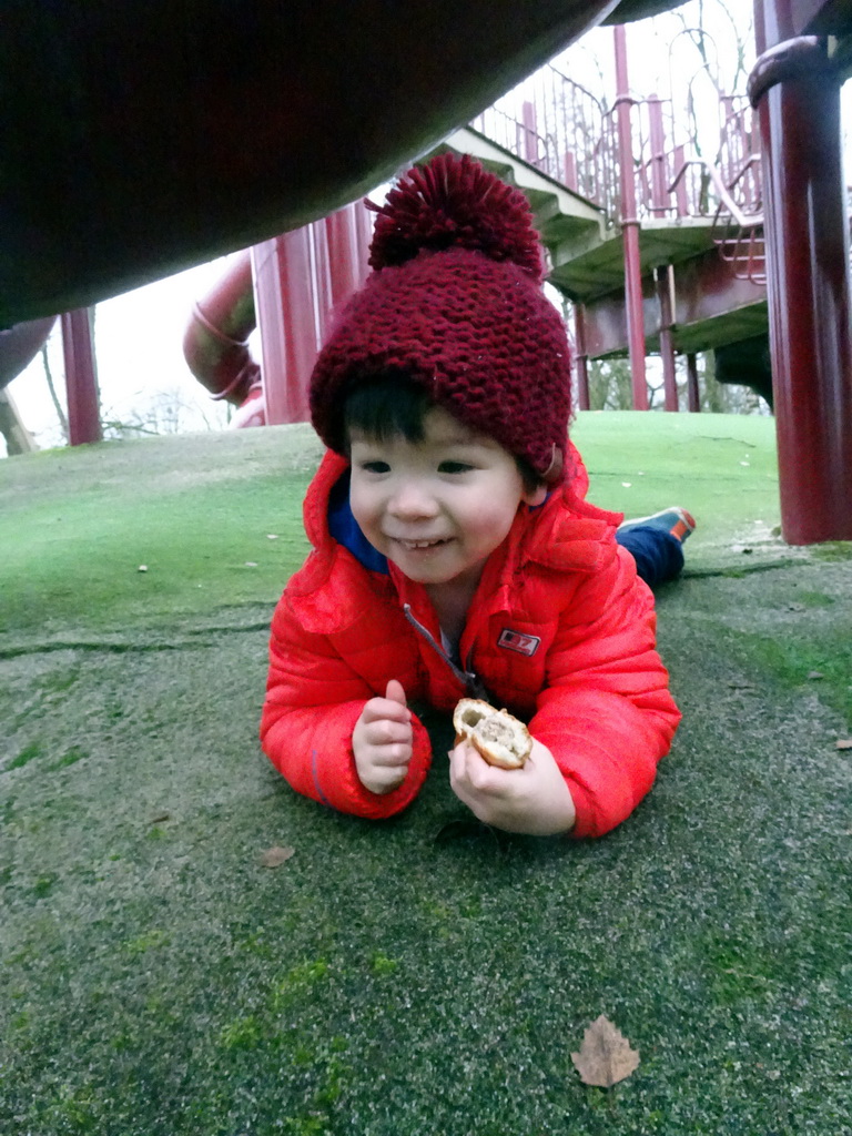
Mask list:
[[352,730],[358,777],[370,793],[391,793],[401,785],[411,760],[411,711],[402,684],[392,678],[383,699],[370,699]]

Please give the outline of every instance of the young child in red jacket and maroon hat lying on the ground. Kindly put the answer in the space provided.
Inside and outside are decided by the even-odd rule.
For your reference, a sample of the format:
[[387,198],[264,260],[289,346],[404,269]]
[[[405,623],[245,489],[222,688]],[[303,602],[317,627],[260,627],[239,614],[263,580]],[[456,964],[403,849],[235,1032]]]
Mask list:
[[[450,783],[508,832],[600,836],[648,793],[679,713],[621,517],[587,503],[570,358],[523,194],[471,159],[411,170],[374,269],[311,376],[328,446],[314,546],[273,619],[265,752],[299,793],[390,817],[432,761],[409,701],[485,698],[529,725],[523,769],[468,744]],[[683,510],[625,526],[657,582]]]

